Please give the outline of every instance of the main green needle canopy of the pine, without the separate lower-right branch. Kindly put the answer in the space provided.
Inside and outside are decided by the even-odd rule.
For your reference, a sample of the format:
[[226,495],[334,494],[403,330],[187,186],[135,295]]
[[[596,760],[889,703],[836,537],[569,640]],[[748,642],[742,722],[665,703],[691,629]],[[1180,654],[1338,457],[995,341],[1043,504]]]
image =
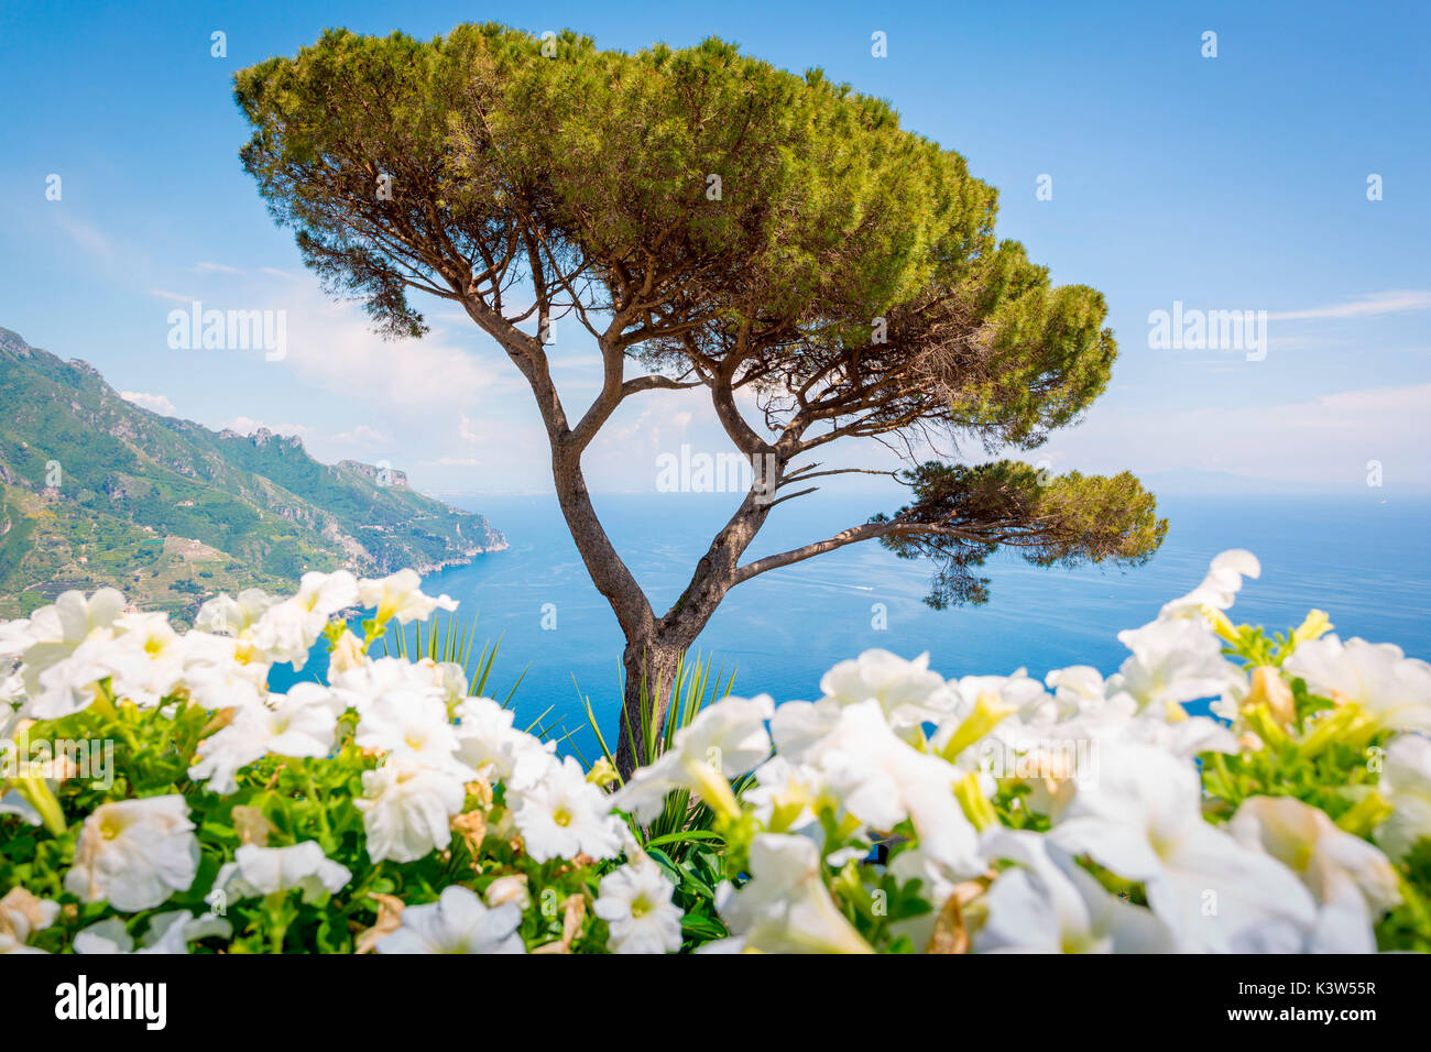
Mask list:
[[424,331],[414,289],[525,321],[504,293],[537,283],[594,332],[624,313],[647,365],[731,374],[821,432],[1032,447],[1103,389],[1103,298],[997,242],[996,192],[884,102],[718,40],[541,49],[495,24],[335,30],[238,76],[246,169],[388,332]]

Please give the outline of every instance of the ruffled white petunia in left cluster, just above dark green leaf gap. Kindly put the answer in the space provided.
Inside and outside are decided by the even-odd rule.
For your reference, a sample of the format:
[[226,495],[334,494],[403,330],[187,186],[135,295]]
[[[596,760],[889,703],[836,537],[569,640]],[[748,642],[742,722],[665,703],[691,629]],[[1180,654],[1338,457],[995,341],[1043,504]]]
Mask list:
[[322,759],[332,751],[342,701],[326,687],[299,683],[285,694],[252,704],[233,723],[199,743],[189,777],[209,779],[213,793],[235,793],[235,776],[265,756]]

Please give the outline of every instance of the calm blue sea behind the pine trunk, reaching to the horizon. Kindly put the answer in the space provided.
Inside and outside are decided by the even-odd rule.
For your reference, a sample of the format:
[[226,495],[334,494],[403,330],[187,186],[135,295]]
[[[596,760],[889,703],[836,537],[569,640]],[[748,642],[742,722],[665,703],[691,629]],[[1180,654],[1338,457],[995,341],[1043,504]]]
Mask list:
[[[1344,638],[1395,643],[1431,657],[1431,500],[1384,501],[1379,494],[1163,497],[1159,512],[1171,530],[1146,565],[1040,570],[1016,554],[999,554],[985,568],[990,601],[946,611],[922,601],[927,562],[899,560],[873,542],[851,545],[738,585],[697,647],[734,673],[737,694],[764,691],[777,701],[819,696],[830,666],[870,647],[904,657],[929,651],[932,666],[947,677],[1020,667],[1042,677],[1069,664],[1093,664],[1108,674],[1126,657],[1116,638],[1122,628],[1152,620],[1165,601],[1202,580],[1213,555],[1241,547],[1261,558],[1262,577],[1245,584],[1231,611],[1235,620],[1286,628],[1321,607]],[[658,613],[681,594],[737,504],[728,494],[594,500]],[[590,756],[578,690],[610,736],[620,711],[622,638],[555,498],[452,502],[487,515],[511,548],[435,574],[425,590],[448,593],[465,615],[475,614],[479,640],[501,640],[488,693],[504,697],[522,676],[514,697],[518,726],[550,708],[547,721],[561,721]],[[773,512],[747,558],[827,537],[880,507],[870,497],[791,501]],[[554,628],[542,627],[545,604],[555,607]]]

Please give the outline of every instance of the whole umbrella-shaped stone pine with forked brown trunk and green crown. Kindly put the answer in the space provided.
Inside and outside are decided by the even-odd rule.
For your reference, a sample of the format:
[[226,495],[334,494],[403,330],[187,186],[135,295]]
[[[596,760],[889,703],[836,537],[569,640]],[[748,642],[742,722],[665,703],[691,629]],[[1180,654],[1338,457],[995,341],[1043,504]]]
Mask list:
[[[1002,545],[1126,565],[1162,541],[1129,474],[933,452],[1037,447],[1102,392],[1116,346],[1102,295],[1050,285],[997,240],[995,190],[884,102],[718,40],[625,54],[495,24],[328,31],[239,73],[235,94],[253,127],[243,166],[332,293],[391,336],[425,332],[412,293],[455,303],[527,378],[561,511],[627,640],[624,770],[654,747],[643,684],[664,713],[678,656],[741,581],[880,541],[933,561],[927,601],[944,607],[986,598],[976,571]],[[558,318],[604,362],[590,405],[552,381]],[[627,399],[683,389],[708,394],[760,471],[658,613],[592,508],[582,454]],[[900,452],[907,504],[744,560],[783,501],[836,471],[819,458],[841,439]]]

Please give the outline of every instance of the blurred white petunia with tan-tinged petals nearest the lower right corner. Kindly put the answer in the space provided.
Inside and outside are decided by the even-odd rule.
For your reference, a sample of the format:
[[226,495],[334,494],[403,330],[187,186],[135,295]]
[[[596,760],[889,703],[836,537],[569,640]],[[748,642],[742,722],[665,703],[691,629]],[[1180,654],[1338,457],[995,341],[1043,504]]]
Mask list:
[[1319,910],[1309,952],[1375,953],[1372,925],[1401,902],[1385,854],[1291,796],[1244,800],[1228,832],[1291,869],[1312,893]]

